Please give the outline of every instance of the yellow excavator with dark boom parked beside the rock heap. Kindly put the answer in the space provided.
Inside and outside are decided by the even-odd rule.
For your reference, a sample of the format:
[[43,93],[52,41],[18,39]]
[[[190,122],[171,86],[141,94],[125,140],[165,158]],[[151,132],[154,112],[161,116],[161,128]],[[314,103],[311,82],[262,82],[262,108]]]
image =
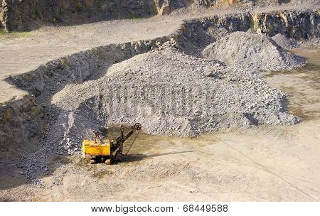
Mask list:
[[82,141],[82,156],[87,160],[90,160],[90,163],[92,164],[102,162],[110,165],[114,161],[121,161],[122,157],[127,156],[129,153],[137,136],[134,138],[132,145],[125,154],[123,153],[124,142],[134,134],[134,131],[139,131],[141,128],[142,125],[136,123],[132,126],[132,130],[129,131],[127,135],[124,135],[124,125],[122,124],[120,126],[120,136],[115,141],[107,139],[106,134],[101,137],[100,133],[96,132],[95,136],[91,139],[84,139]]

